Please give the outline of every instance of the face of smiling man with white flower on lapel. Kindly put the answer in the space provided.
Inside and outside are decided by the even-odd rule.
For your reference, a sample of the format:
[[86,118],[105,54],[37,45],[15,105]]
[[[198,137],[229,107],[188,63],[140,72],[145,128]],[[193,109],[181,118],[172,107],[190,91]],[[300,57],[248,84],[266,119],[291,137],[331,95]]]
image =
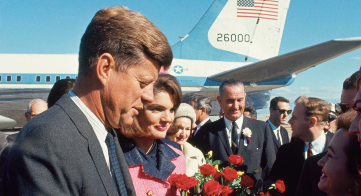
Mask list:
[[235,121],[243,114],[245,97],[246,93],[242,85],[225,86],[222,97],[218,96],[217,101],[228,120]]

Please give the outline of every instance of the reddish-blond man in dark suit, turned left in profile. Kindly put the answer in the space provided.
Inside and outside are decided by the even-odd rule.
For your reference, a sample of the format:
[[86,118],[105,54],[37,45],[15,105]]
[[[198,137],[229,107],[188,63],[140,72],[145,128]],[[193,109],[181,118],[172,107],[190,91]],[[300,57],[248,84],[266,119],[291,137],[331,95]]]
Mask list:
[[329,118],[329,104],[321,99],[301,96],[295,101],[288,121],[292,137],[299,139],[282,145],[270,173],[272,180],[283,180],[284,196],[295,195],[303,163],[307,157],[327,151],[332,133],[325,135],[323,127]]

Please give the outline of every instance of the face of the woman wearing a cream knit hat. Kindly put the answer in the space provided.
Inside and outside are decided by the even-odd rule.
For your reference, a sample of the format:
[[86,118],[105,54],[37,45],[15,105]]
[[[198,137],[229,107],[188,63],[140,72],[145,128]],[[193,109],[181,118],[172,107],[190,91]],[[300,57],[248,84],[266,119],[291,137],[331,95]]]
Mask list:
[[179,145],[183,145],[191,134],[192,121],[186,117],[179,117],[174,123],[177,125],[178,132],[174,135],[168,136],[167,138],[168,140],[177,142]]

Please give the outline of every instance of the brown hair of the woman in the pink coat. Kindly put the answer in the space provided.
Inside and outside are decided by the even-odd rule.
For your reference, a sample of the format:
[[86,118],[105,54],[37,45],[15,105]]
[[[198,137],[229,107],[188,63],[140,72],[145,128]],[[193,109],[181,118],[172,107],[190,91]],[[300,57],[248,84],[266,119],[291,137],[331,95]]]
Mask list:
[[[179,105],[182,102],[182,90],[181,85],[179,85],[177,79],[174,76],[169,74],[160,74],[158,79],[153,85],[153,93],[157,94],[160,92],[168,93],[174,104],[174,109],[177,110]],[[140,128],[138,119],[133,118],[133,124],[129,127],[122,127],[120,129],[122,135],[133,138],[133,137],[147,137],[148,132],[145,132]]]

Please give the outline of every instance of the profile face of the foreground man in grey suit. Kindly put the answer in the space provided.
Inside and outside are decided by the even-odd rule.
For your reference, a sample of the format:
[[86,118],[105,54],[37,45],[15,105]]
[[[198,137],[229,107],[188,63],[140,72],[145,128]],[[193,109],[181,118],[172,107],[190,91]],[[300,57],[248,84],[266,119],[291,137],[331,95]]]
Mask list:
[[126,73],[112,72],[101,92],[106,127],[131,125],[143,104],[153,102],[153,84],[159,69],[158,63],[146,57],[142,64],[130,67]]

